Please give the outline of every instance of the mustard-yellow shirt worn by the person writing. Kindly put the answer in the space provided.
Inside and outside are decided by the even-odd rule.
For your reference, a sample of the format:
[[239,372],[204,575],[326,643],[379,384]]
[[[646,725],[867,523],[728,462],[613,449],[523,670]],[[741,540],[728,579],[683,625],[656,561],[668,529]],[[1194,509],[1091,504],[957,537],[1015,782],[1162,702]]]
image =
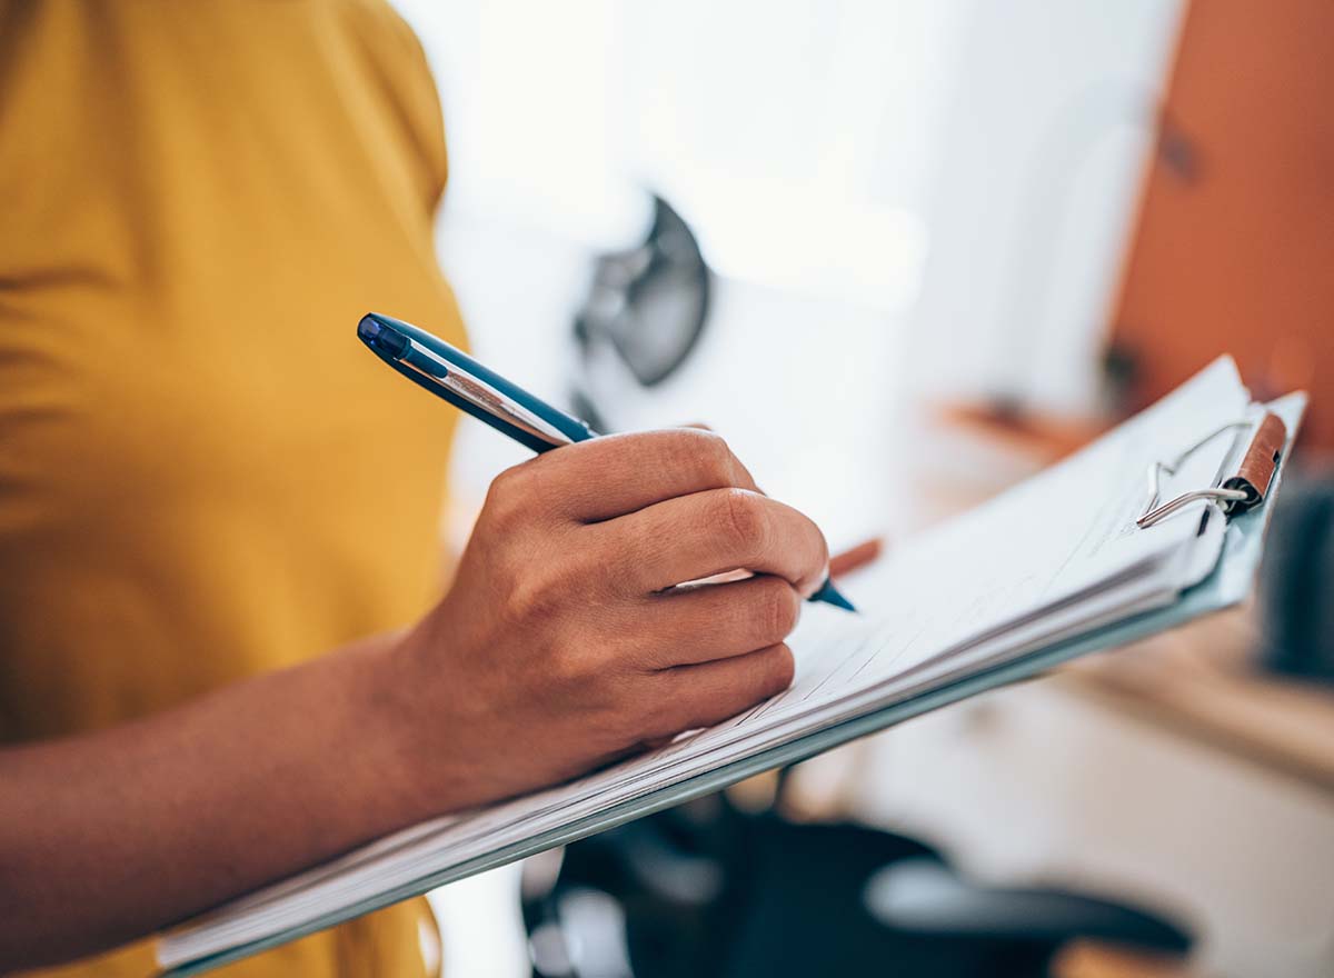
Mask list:
[[[402,626],[455,412],[355,339],[462,340],[439,104],[371,0],[0,0],[0,742]],[[227,975],[423,973],[424,903]],[[147,946],[61,974],[152,970]]]

